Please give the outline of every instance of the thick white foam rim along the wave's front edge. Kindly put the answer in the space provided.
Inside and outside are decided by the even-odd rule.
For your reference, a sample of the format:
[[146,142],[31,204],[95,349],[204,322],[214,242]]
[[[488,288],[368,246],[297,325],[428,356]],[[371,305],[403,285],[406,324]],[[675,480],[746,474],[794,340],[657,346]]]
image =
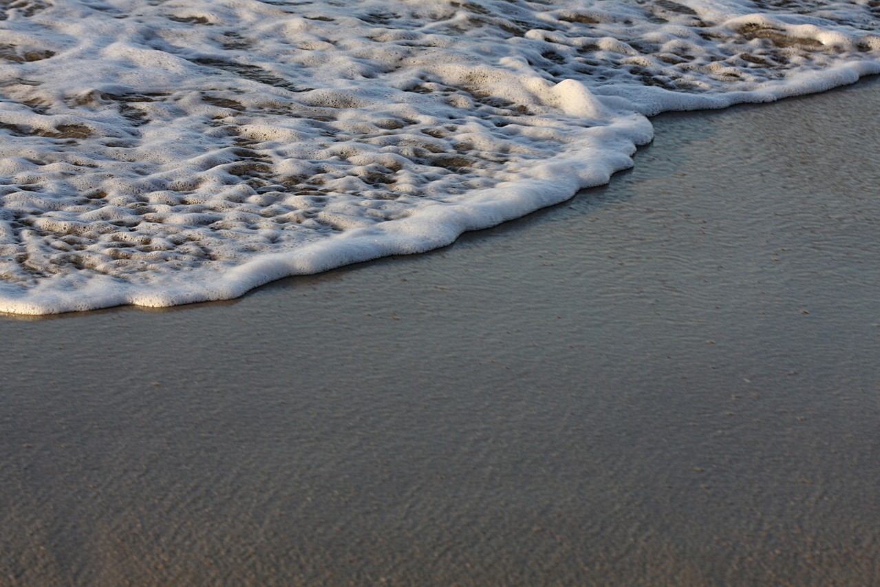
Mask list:
[[[689,106],[680,110],[669,102],[665,105],[668,109],[660,111],[660,114],[652,112],[651,108],[646,110],[644,105],[641,110],[632,105],[634,110],[631,113],[615,114],[606,126],[595,128],[599,131],[596,134],[591,132],[594,128],[587,128],[581,139],[583,144],[604,143],[606,139],[601,137],[607,134],[606,131],[620,127],[620,136],[616,139],[617,142],[629,144],[632,151],[628,156],[622,151],[618,152],[619,146],[611,147],[614,141],[606,145],[605,150],[599,150],[600,156],[595,158],[590,158],[589,149],[585,159],[576,157],[576,150],[562,150],[554,158],[539,165],[540,170],[533,177],[527,173],[519,173],[517,180],[503,182],[510,184],[508,187],[495,186],[477,190],[473,198],[464,202],[444,202],[442,206],[417,209],[413,216],[343,232],[336,237],[322,238],[289,251],[260,255],[231,268],[218,270],[210,265],[195,268],[190,277],[198,285],[187,285],[173,274],[171,277],[160,276],[157,282],[135,286],[131,286],[130,282],[106,278],[105,275],[93,277],[92,282],[77,282],[74,278],[67,282],[68,287],[64,290],[60,290],[55,284],[55,289],[49,288],[47,291],[49,282],[40,282],[24,296],[0,297],[2,307],[18,308],[18,311],[0,310],[0,317],[91,312],[129,305],[165,308],[224,301],[245,296],[255,288],[280,279],[319,275],[336,268],[369,263],[389,256],[429,253],[437,248],[451,246],[467,232],[488,230],[510,223],[540,209],[564,204],[576,198],[584,189],[607,185],[615,174],[626,171],[632,165],[630,158],[634,152],[653,141],[649,138],[653,134],[653,124],[650,121],[656,116],[707,112],[713,108],[766,105],[782,99],[798,99],[815,93],[832,92],[847,85],[859,84],[862,80],[869,83],[870,79],[880,75],[877,67],[880,66],[871,62],[847,63],[827,70],[820,76],[816,72],[810,72],[809,75],[802,76],[800,83],[771,86],[755,92],[734,92],[721,97],[711,95],[702,103],[702,107],[709,110],[700,110],[694,106],[700,103],[699,100],[688,102]],[[614,99],[616,94],[603,96]],[[696,99],[693,96],[690,98]],[[670,99],[671,97],[666,96],[667,102]],[[650,118],[641,118],[649,115]],[[643,128],[645,125],[642,122],[649,126],[647,130]],[[595,148],[595,145],[591,148]],[[579,165],[579,161],[583,161],[583,165]],[[561,185],[559,181],[542,177],[554,166],[568,168],[568,174],[563,173],[566,181]],[[574,171],[578,166],[589,171]],[[572,185],[578,183],[590,187],[577,190],[570,196],[561,195],[570,194]],[[504,189],[510,193],[503,197],[493,195]],[[534,194],[540,196],[536,198]],[[377,232],[382,238],[376,238]],[[340,264],[341,258],[347,260]],[[66,275],[64,279],[69,277],[70,275]],[[40,292],[34,293],[36,290]],[[68,298],[70,290],[77,290],[77,297]],[[94,307],[82,309],[88,305]]]

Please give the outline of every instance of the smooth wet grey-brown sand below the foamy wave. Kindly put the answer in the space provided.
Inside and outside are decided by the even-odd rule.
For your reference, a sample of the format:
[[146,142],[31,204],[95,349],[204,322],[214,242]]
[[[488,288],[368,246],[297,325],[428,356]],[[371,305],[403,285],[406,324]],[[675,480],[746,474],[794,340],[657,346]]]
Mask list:
[[880,583],[880,84],[237,301],[0,319],[0,583]]

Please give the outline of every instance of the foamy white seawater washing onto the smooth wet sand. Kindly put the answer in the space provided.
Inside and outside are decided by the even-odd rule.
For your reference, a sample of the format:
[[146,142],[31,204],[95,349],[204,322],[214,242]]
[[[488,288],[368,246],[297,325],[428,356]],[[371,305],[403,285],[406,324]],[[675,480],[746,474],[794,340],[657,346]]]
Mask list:
[[861,0],[3,3],[0,311],[444,246],[605,183],[650,115],[880,73],[878,31]]

